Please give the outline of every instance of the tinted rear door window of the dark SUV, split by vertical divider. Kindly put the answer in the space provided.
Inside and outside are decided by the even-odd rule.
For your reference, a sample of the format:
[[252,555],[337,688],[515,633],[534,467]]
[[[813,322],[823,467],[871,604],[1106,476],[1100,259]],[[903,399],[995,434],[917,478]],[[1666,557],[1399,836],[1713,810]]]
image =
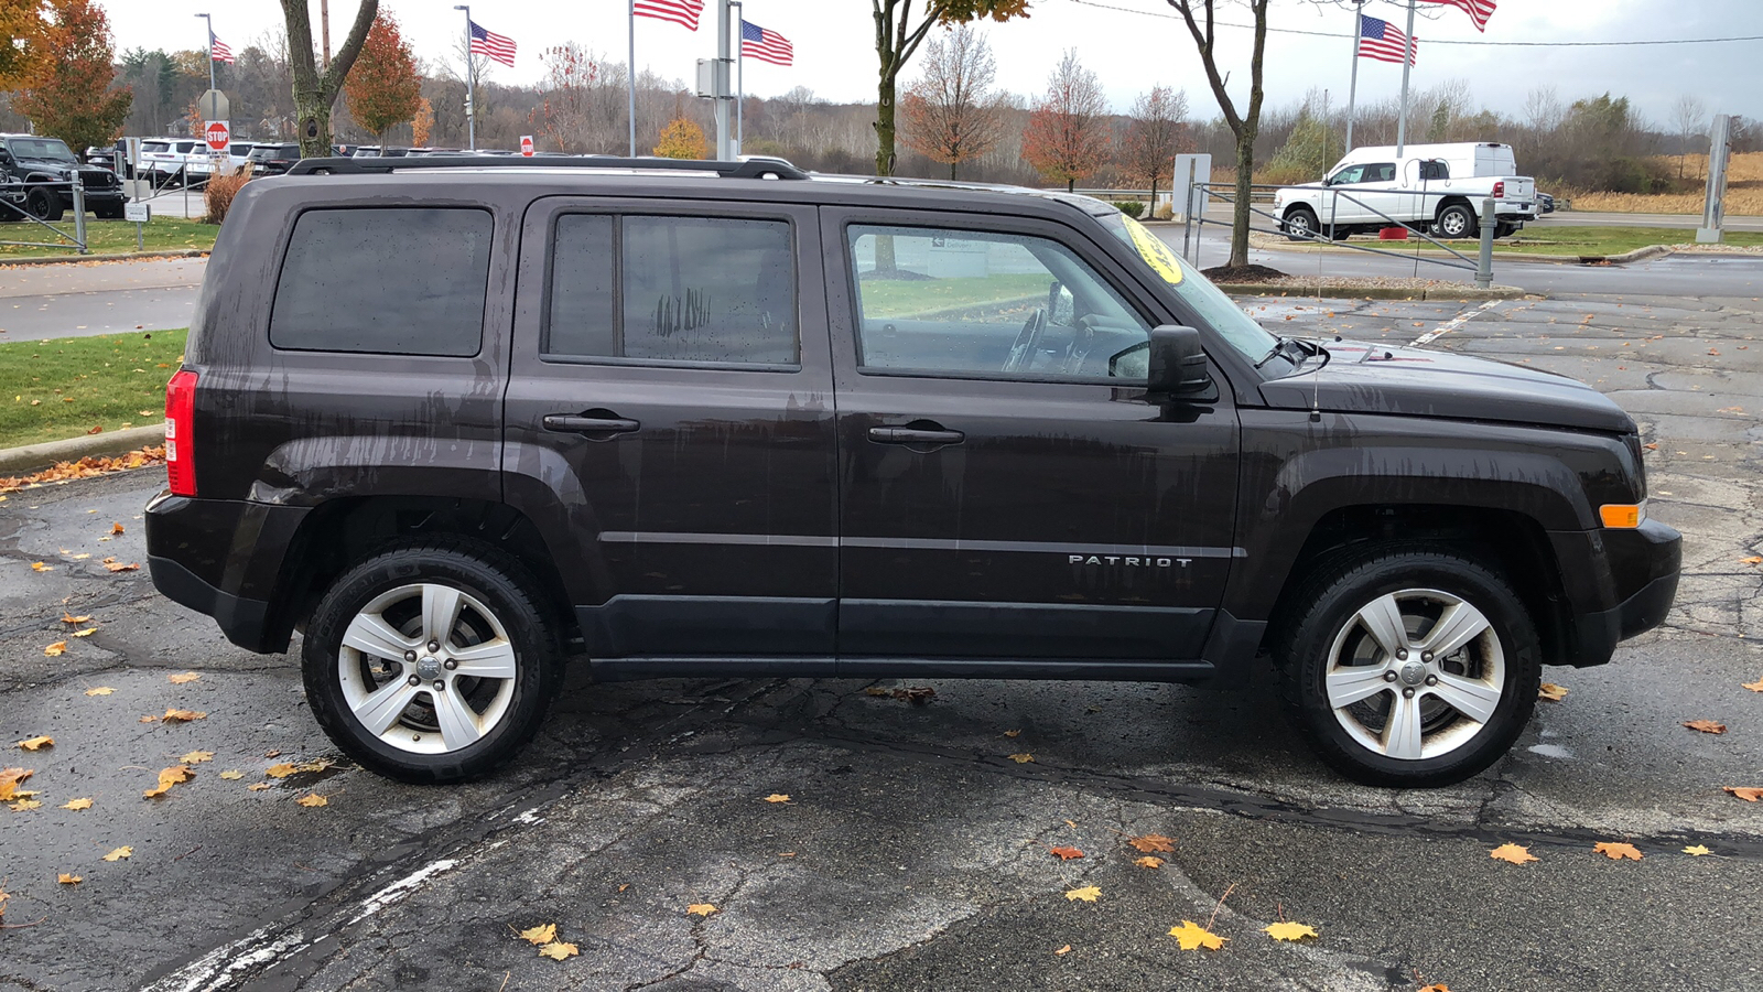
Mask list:
[[548,355],[797,362],[785,221],[564,215],[554,245]]

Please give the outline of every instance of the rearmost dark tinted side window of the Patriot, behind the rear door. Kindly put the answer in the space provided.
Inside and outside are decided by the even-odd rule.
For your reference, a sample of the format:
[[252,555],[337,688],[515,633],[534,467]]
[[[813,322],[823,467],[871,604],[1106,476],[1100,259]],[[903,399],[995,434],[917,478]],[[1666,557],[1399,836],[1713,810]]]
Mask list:
[[490,274],[487,210],[307,210],[270,311],[270,344],[476,355]]

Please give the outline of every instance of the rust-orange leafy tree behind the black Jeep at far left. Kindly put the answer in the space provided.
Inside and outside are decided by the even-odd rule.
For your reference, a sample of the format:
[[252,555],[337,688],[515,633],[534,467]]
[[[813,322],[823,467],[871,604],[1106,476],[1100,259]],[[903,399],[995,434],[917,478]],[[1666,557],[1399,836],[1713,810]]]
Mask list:
[[134,102],[132,90],[113,90],[116,79],[109,18],[92,0],[49,0],[49,23],[41,53],[12,99],[12,109],[30,118],[37,134],[67,141],[76,152],[109,145]]

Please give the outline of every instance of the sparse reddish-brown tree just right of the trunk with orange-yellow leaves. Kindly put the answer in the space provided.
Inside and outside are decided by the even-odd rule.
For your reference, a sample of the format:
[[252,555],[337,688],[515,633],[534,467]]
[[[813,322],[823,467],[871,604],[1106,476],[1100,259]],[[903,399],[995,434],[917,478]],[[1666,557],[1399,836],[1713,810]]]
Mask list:
[[998,67],[991,46],[971,25],[956,25],[931,41],[924,76],[906,88],[901,141],[956,178],[961,162],[991,152],[1003,138],[1005,94],[993,90]]

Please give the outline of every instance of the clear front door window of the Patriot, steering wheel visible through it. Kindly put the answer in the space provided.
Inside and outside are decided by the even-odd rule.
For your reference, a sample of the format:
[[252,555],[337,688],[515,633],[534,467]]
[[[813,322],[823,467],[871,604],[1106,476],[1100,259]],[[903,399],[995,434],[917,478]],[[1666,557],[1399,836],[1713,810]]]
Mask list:
[[[1107,380],[1109,358],[1149,339],[1127,300],[1054,240],[864,224],[848,237],[866,372]],[[1142,380],[1144,364],[1128,357],[1116,371]]]

